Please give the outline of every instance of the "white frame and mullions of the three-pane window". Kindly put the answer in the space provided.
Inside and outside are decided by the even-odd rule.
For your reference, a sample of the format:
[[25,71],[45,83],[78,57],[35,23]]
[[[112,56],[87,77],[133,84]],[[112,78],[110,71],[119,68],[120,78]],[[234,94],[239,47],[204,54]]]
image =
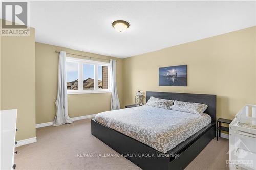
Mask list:
[[[66,57],[66,62],[78,63],[78,90],[68,90],[67,94],[91,94],[91,93],[109,93],[110,92],[110,63]],[[83,64],[94,65],[94,90],[83,89]],[[108,67],[108,89],[99,89],[98,66]],[[66,72],[67,76],[67,72]],[[67,83],[66,83],[67,84]],[[67,85],[66,85],[67,88]]]

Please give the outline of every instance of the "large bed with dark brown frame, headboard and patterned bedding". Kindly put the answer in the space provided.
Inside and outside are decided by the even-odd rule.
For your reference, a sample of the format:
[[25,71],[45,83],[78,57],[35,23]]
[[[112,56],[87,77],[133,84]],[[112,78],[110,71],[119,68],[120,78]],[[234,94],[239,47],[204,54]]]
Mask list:
[[151,96],[208,108],[203,116],[151,106],[104,112],[91,120],[92,135],[142,169],[184,169],[215,137],[216,95],[148,91],[146,101]]

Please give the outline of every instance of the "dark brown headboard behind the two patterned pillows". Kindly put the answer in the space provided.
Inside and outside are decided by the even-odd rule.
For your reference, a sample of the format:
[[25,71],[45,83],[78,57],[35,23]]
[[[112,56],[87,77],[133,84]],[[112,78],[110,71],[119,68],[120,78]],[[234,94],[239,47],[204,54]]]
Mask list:
[[146,92],[146,101],[153,96],[161,99],[173,99],[184,102],[196,102],[208,105],[205,113],[211,116],[212,122],[216,122],[216,95],[211,94],[188,94],[188,93],[169,93],[169,92]]

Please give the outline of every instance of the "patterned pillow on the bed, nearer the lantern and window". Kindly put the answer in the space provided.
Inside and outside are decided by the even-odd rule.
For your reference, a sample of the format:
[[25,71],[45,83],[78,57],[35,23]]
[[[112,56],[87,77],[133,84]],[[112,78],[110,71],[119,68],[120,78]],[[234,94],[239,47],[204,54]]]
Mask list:
[[163,109],[168,109],[173,104],[174,100],[160,99],[154,97],[150,97],[150,99],[146,103],[147,106],[159,107]]

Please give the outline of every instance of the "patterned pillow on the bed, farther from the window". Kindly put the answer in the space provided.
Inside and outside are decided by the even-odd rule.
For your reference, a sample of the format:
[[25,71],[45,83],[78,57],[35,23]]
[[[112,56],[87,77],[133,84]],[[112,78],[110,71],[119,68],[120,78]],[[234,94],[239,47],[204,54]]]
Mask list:
[[175,100],[174,105],[170,106],[168,109],[187,113],[203,114],[207,107],[207,105],[201,103],[182,102]]

